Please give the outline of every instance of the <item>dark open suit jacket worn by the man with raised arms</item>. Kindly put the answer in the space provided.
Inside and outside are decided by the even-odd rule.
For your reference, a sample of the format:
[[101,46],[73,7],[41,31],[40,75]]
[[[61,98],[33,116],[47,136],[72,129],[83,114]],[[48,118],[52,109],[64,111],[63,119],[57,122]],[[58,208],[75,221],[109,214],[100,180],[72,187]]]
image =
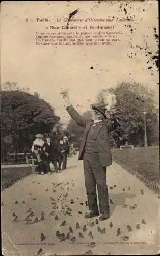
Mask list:
[[[81,144],[79,147],[79,156],[78,160],[83,160],[84,156],[84,148],[86,144],[87,135],[89,129],[92,125],[92,121],[82,117],[78,114],[78,112],[73,108],[73,106],[69,106],[67,108],[69,115],[74,119],[74,121],[79,125],[85,128]],[[109,142],[109,132],[115,130],[120,124],[116,118],[112,118],[112,121],[106,119],[98,124],[98,135],[96,135],[97,148],[99,152],[99,158],[102,166],[109,166],[112,164],[112,155],[110,153],[110,142]]]

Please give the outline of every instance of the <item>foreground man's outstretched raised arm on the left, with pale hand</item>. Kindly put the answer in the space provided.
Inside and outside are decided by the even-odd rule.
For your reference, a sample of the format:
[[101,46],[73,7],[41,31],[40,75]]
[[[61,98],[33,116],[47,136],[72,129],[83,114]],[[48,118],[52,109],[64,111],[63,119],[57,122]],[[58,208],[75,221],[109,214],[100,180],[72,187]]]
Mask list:
[[87,124],[87,119],[82,117],[81,115],[79,115],[79,113],[74,109],[73,105],[70,103],[69,100],[69,96],[68,93],[64,93],[62,94],[64,101],[65,101],[65,105],[66,105],[66,110],[68,112],[68,114],[71,116],[71,118],[79,125],[82,127],[86,127]]

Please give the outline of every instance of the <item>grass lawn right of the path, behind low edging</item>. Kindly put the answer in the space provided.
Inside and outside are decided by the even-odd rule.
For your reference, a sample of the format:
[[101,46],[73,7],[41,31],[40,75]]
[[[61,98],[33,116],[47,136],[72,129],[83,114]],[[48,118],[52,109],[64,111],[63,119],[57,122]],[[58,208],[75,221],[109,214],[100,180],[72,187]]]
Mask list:
[[112,150],[114,160],[130,168],[134,172],[141,174],[144,178],[159,183],[159,148],[139,147],[131,150]]

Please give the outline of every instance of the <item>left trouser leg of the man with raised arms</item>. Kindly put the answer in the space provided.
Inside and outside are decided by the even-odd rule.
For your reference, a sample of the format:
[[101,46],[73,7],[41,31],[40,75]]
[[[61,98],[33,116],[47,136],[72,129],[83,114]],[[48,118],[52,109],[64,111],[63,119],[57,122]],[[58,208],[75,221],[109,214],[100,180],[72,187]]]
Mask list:
[[89,163],[89,154],[84,153],[84,175],[85,175],[85,187],[88,198],[88,208],[90,211],[98,212],[97,205],[97,193],[96,193],[96,180],[92,172],[91,165]]

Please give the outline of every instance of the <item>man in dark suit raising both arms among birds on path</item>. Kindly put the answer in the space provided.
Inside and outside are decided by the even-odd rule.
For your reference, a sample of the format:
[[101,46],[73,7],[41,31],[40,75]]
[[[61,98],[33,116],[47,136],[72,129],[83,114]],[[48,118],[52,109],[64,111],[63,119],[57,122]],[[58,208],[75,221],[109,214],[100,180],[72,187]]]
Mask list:
[[106,167],[112,164],[110,153],[109,132],[116,129],[120,124],[110,110],[116,104],[115,95],[110,94],[105,108],[91,105],[91,120],[83,118],[70,103],[68,93],[62,93],[66,109],[76,123],[85,128],[78,160],[84,160],[85,186],[87,190],[88,206],[90,212],[85,218],[99,215],[97,205],[96,186],[98,189],[99,220],[110,218],[110,206],[108,187],[106,185]]

